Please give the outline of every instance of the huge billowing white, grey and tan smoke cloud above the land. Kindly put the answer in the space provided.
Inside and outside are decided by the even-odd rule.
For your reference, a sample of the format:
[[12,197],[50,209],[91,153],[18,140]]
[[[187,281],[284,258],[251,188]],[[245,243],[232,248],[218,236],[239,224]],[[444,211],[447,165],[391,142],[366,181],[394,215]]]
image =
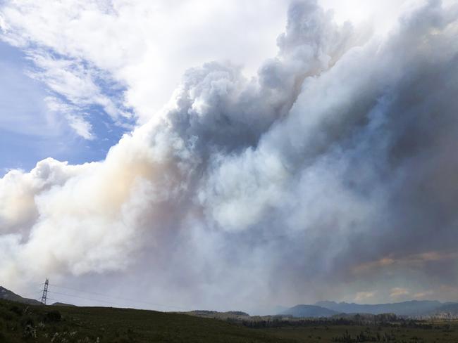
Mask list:
[[0,280],[115,280],[215,309],[449,297],[457,34],[440,1],[386,37],[293,3],[256,78],[192,68],[104,161],[0,179]]

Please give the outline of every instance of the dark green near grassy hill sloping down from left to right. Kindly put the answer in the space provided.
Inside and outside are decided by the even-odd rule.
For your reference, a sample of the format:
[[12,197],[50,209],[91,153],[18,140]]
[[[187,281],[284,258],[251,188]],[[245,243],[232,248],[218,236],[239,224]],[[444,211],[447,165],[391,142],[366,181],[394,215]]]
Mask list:
[[[54,339],[53,339],[54,338]],[[0,300],[0,342],[278,342],[242,325],[179,313],[77,306],[29,306]],[[296,342],[282,339],[282,342]]]

